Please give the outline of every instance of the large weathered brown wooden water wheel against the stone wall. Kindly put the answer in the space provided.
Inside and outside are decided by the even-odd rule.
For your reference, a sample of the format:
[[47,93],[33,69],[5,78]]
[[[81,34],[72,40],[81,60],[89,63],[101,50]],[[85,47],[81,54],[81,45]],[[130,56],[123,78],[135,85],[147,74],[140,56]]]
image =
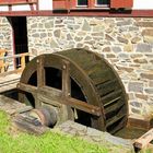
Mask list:
[[72,119],[115,133],[127,123],[127,95],[118,74],[104,58],[85,49],[34,58],[17,87],[21,102],[54,108],[57,125]]

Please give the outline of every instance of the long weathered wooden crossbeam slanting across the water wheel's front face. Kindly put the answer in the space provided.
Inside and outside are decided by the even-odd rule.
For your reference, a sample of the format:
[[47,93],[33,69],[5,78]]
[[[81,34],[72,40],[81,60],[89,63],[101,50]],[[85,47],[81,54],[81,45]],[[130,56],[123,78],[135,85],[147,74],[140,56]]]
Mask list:
[[87,104],[85,102],[82,102],[75,98],[63,96],[62,92],[57,89],[47,87],[47,86],[36,87],[36,86],[24,84],[24,83],[19,83],[17,89],[27,93],[35,94],[35,95],[36,94],[38,94],[39,96],[43,95],[46,98],[50,99],[50,105],[51,105],[51,101],[56,101],[59,104],[64,104],[72,108],[76,108],[76,109],[86,111],[89,114],[95,115],[95,116],[102,115],[101,107]]

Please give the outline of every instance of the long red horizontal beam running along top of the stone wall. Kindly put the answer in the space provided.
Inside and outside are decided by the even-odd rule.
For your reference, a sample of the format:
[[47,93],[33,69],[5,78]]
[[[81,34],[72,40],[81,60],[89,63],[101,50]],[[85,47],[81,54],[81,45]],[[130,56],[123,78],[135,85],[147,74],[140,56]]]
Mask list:
[[54,13],[54,11],[1,11],[0,16],[103,16],[103,17],[153,17],[153,10],[131,10],[110,12],[103,9],[70,10],[70,13]]

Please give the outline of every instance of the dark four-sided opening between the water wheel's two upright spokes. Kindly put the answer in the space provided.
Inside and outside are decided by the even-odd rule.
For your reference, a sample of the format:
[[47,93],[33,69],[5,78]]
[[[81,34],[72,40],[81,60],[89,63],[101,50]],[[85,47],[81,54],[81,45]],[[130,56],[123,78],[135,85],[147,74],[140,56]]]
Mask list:
[[45,80],[46,80],[45,85],[61,90],[62,89],[61,74],[62,74],[61,70],[59,69],[51,67],[45,68]]

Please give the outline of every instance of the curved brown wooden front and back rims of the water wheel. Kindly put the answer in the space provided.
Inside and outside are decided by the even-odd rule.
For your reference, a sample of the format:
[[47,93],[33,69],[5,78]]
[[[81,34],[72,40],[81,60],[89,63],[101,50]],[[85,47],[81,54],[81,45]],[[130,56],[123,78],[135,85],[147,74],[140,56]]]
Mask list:
[[[72,54],[72,51],[74,51],[74,49],[67,50],[68,55],[69,55],[69,52]],[[76,49],[75,51],[80,51],[78,54],[81,54],[82,51],[86,51],[90,55],[93,54],[93,52],[84,50],[84,49]],[[67,52],[66,52],[66,55],[64,55],[64,51],[62,51],[62,52],[57,52],[57,54],[52,54],[52,55],[42,55],[39,57],[36,57],[35,59],[33,59],[31,61],[31,64],[27,64],[27,67],[25,68],[24,72],[23,72],[23,74],[21,76],[21,82],[28,83],[30,75],[32,73],[34,73],[35,71],[37,71],[37,62],[42,58],[45,59],[44,60],[44,67],[50,67],[51,66],[51,67],[60,69],[60,70],[62,70],[63,62],[64,61],[69,61],[69,63],[70,63],[70,76],[72,79],[74,79],[76,81],[76,83],[80,84],[80,86],[82,86],[83,94],[87,97],[87,103],[94,104],[96,106],[101,106],[102,107],[103,115],[99,118],[93,117],[93,125],[92,125],[92,127],[94,127],[96,129],[99,129],[99,130],[107,130],[107,128],[109,127],[109,125],[107,127],[107,120],[108,119],[106,119],[105,108],[104,108],[104,105],[102,104],[103,102],[101,102],[102,98],[101,98],[99,94],[97,94],[97,89],[94,85],[94,81],[78,64],[78,62],[75,60],[73,60],[73,58],[70,58],[67,55]],[[128,116],[127,95],[126,95],[123,85],[122,85],[118,74],[114,70],[114,68],[105,59],[103,59],[98,55],[95,55],[95,54],[93,54],[93,55],[94,55],[95,58],[97,58],[98,60],[102,60],[109,68],[109,70],[111,71],[111,73],[114,73],[114,75],[116,76],[118,83],[120,84],[121,94],[123,95],[123,101],[125,101],[123,105],[125,105],[125,108],[126,108],[125,109],[125,116],[123,116],[125,122],[122,123],[122,126],[120,126],[120,127],[123,127],[126,125],[126,120],[127,120],[127,116]],[[28,72],[28,69],[31,69],[31,73]],[[79,75],[78,75],[78,73],[79,73]],[[91,91],[89,91],[89,90],[91,90]],[[91,93],[93,95],[91,95]],[[93,97],[91,97],[91,96],[93,96]],[[110,132],[111,131],[114,132],[114,130],[110,129]]]

